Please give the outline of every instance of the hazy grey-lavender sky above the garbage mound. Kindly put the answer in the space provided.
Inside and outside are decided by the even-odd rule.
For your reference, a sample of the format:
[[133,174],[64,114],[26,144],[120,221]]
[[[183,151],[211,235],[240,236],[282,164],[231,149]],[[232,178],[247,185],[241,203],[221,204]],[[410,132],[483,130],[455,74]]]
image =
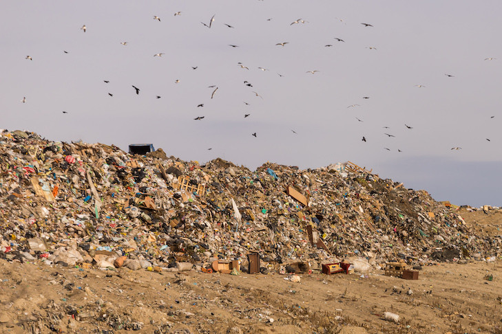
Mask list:
[[0,128],[251,170],[351,161],[502,205],[501,16],[499,0],[5,0]]

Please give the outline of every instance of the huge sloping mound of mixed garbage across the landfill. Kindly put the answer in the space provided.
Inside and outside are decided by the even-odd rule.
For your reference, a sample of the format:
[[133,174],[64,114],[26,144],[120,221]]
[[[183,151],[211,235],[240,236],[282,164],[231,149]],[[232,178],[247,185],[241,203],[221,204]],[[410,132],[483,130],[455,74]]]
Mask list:
[[2,131],[0,198],[0,258],[21,262],[176,271],[215,259],[245,267],[258,252],[279,271],[351,257],[377,267],[501,255],[501,236],[479,236],[426,191],[354,164],[251,171]]

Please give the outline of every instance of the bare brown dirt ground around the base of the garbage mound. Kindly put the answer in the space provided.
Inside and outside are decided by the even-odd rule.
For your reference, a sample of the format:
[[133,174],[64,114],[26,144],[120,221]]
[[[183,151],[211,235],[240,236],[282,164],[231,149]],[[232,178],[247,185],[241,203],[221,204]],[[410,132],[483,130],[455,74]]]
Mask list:
[[[460,214],[500,234],[500,212]],[[502,333],[500,260],[428,265],[419,280],[383,274],[291,282],[0,260],[0,333]]]

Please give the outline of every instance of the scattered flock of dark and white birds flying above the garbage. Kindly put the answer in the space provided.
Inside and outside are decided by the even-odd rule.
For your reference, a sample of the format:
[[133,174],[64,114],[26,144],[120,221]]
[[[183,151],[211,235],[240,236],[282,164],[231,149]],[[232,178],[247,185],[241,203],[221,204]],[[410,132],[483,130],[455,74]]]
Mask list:
[[[182,12],[175,12],[174,16],[180,16],[181,14],[182,14]],[[202,22],[201,21],[200,23],[203,25],[203,27],[206,27],[207,29],[211,29],[211,27],[213,27],[214,24],[215,24],[215,22],[216,22],[215,17],[216,17],[216,14],[213,14],[211,16],[211,19],[209,19],[209,22]],[[158,21],[158,22],[161,22],[160,16],[154,15],[153,19],[156,20],[156,21]],[[267,21],[271,21],[271,19],[267,19]],[[343,22],[343,20],[340,20],[340,21]],[[309,23],[309,22],[300,18],[300,19],[296,19],[295,21],[291,22],[290,26],[292,26],[292,25],[302,25],[302,24],[306,24],[306,23]],[[222,24],[224,26],[230,28],[230,29],[236,29],[236,27],[234,27],[233,25],[230,25],[228,23],[222,23]],[[373,25],[369,24],[369,23],[360,23],[360,24],[363,25],[364,28],[374,28]],[[80,29],[83,31],[83,33],[87,32],[87,25],[82,25],[82,27]],[[203,29],[203,28],[201,27],[201,29]],[[344,39],[339,38],[339,37],[334,37],[333,39],[335,41],[337,41],[338,43],[346,43],[346,41],[344,41]],[[121,43],[121,45],[123,45],[123,46],[127,46],[128,45],[127,41],[122,41],[122,42],[119,42],[119,43]],[[289,44],[290,43],[288,41],[281,41],[281,42],[276,43],[275,46],[278,46],[278,47],[287,47],[286,45],[289,45]],[[239,47],[239,45],[229,44],[229,47],[236,48],[236,47]],[[333,45],[332,44],[326,44],[326,45],[324,45],[324,47],[333,47]],[[368,49],[375,49],[375,50],[377,49],[376,47],[373,47],[373,46],[366,47],[366,48],[368,48]],[[65,54],[68,53],[66,50],[63,50],[63,52]],[[154,57],[158,57],[158,58],[162,58],[163,55],[165,55],[165,53],[164,52],[160,52],[160,53],[154,54],[153,56]],[[26,60],[30,60],[30,61],[33,60],[32,56],[25,56],[25,59]],[[490,58],[485,58],[484,60],[496,60],[496,58],[490,57]],[[244,65],[242,62],[237,63],[237,65],[238,65],[238,67],[240,67],[240,69],[245,69],[245,70],[249,71],[249,67],[246,66],[246,65]],[[192,70],[196,70],[196,69],[198,69],[198,66],[192,66],[191,69]],[[258,67],[258,69],[260,69],[260,71],[269,71],[269,69],[266,69],[264,67]],[[317,74],[318,72],[320,72],[320,70],[317,70],[317,69],[314,69],[314,70],[311,70],[311,71],[305,71],[306,74],[311,74],[311,75]],[[283,77],[282,74],[278,74],[278,76]],[[454,76],[452,74],[445,74],[445,76],[447,76],[448,78],[454,78]],[[103,80],[103,82],[109,83],[109,80]],[[176,84],[178,84],[180,82],[181,82],[180,79],[176,79],[175,80]],[[246,85],[247,87],[253,87],[253,85],[251,84],[251,82],[249,82],[247,80],[244,80],[244,85]],[[415,87],[417,87],[417,88],[426,88],[425,85],[415,85]],[[136,95],[140,94],[140,88],[136,87],[135,85],[132,85],[132,88],[134,89],[134,91],[132,91],[132,93],[136,93]],[[212,92],[211,92],[211,95],[210,95],[211,99],[215,98],[216,93],[218,91],[218,87],[216,85],[211,85],[208,88],[212,89]],[[258,92],[252,91],[252,93],[255,95],[255,97],[263,99],[263,97]],[[108,92],[108,96],[113,97],[114,94]],[[161,96],[155,96],[155,98],[159,99],[159,98],[161,98]],[[370,99],[370,96],[363,96],[362,98],[365,99],[365,100],[368,100],[368,99]],[[26,103],[27,102],[26,97],[23,97],[23,99],[21,100],[21,102],[22,103]],[[244,104],[249,105],[248,102],[244,102]],[[197,108],[203,108],[204,106],[205,106],[204,103],[199,103],[199,104],[196,105]],[[360,105],[359,104],[351,104],[347,108],[356,109],[357,107],[360,107]],[[67,114],[68,112],[67,111],[63,111],[63,113]],[[249,116],[251,116],[251,113],[244,113],[244,118],[249,118]],[[197,116],[196,118],[194,118],[193,120],[202,121],[202,120],[205,119],[205,117],[206,117],[205,115],[200,115],[200,116]],[[357,122],[364,122],[364,120],[362,120],[361,118],[357,118],[357,117],[355,117],[355,118],[356,118]],[[494,116],[492,116],[491,118],[494,118]],[[404,124],[404,126],[406,127],[407,130],[411,131],[413,129],[413,126],[409,126],[408,124]],[[388,126],[384,126],[383,128],[384,129],[389,129]],[[292,133],[294,135],[297,135],[296,131],[294,131],[293,129],[291,129],[291,131],[292,131]],[[257,132],[253,132],[253,133],[251,133],[251,135],[253,137],[258,137]],[[386,135],[388,138],[396,137],[392,133],[388,133],[388,132],[384,132],[383,135]],[[486,140],[488,142],[490,142],[489,138],[486,138]],[[367,142],[367,141],[368,141],[367,135],[363,135],[362,136],[362,142]],[[384,147],[384,149],[386,151],[391,151],[390,148],[387,148],[387,147]],[[459,151],[461,149],[462,149],[461,147],[455,146],[455,147],[452,147],[450,150],[451,151]],[[211,150],[211,148],[208,148],[208,150]],[[401,149],[398,148],[397,152],[401,153],[402,151],[401,151]]]

